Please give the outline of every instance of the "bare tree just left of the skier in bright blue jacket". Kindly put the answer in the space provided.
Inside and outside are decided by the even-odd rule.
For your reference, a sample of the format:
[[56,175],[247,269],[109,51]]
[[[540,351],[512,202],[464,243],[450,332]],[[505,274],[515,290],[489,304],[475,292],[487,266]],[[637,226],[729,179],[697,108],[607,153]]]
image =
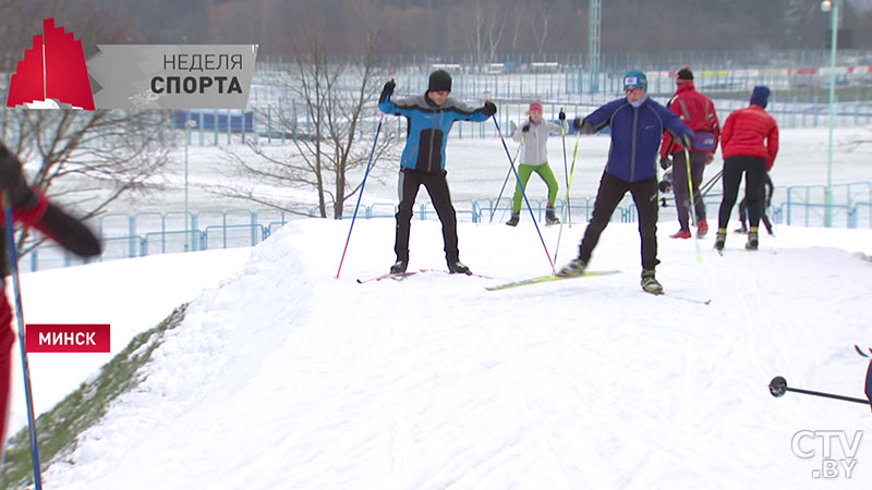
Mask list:
[[[293,151],[277,152],[257,142],[250,142],[255,160],[228,150],[231,160],[246,179],[254,176],[262,184],[298,191],[314,191],[318,215],[327,218],[343,215],[346,200],[354,196],[362,182],[348,180],[349,173],[364,168],[368,162],[374,136],[374,125],[364,128],[364,122],[376,120],[375,99],[380,91],[379,82],[386,78],[377,69],[375,46],[378,30],[365,33],[364,54],[351,62],[331,52],[327,30],[314,28],[313,34],[298,45],[295,62],[286,72],[286,88],[302,105],[308,124],[300,124],[294,112],[279,114],[280,131],[292,135]],[[392,156],[396,138],[382,133],[375,147],[373,161]],[[280,154],[280,155],[279,155]],[[249,199],[263,205],[303,213],[305,198],[280,201],[263,191],[232,187],[213,187],[211,192]]]

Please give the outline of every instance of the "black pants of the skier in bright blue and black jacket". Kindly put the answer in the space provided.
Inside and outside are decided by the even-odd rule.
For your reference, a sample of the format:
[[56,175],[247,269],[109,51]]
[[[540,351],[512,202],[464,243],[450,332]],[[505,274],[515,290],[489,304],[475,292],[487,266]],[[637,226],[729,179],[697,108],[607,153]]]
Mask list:
[[397,237],[393,242],[393,252],[397,260],[409,260],[409,232],[412,226],[412,207],[417,197],[421,185],[427,189],[429,200],[436,209],[436,215],[443,223],[443,240],[445,242],[445,258],[449,262],[460,260],[457,249],[457,213],[451,205],[451,194],[445,176],[448,172],[425,173],[416,170],[400,170],[400,182],[397,189],[400,194],[400,207],[397,211]]

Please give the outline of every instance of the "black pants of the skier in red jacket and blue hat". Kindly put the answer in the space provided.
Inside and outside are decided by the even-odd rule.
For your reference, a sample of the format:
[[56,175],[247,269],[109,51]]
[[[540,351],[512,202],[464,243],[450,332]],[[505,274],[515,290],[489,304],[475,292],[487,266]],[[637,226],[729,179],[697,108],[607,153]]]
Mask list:
[[756,230],[760,225],[760,198],[763,180],[766,176],[766,159],[760,157],[735,156],[724,160],[724,198],[718,209],[718,231],[726,230],[729,215],[739,196],[739,184],[744,174],[744,199],[748,205],[748,224]]

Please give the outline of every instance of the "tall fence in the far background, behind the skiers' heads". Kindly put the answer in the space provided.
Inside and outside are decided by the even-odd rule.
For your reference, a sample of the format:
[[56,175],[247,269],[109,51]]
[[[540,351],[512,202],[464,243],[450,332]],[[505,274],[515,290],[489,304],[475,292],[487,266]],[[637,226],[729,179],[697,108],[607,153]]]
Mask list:
[[[452,95],[476,106],[485,98],[499,107],[501,123],[521,120],[532,100],[544,103],[546,117],[556,117],[560,108],[567,113],[586,114],[608,100],[622,96],[621,79],[631,68],[645,70],[649,93],[666,101],[674,90],[674,72],[690,64],[698,88],[715,100],[720,119],[732,110],[748,105],[755,85],[773,89],[767,110],[783,128],[822,127],[828,121],[828,87],[831,70],[828,50],[797,51],[685,51],[603,53],[598,73],[586,70],[580,53],[504,54],[482,65],[471,56],[448,54],[438,58],[416,54],[385,54],[382,60],[387,76],[397,77],[396,97],[422,94],[429,72],[445,68],[453,76]],[[355,63],[353,58],[336,62]],[[241,142],[246,137],[271,144],[314,134],[312,114],[298,95],[296,62],[281,57],[262,57],[257,62],[249,96],[249,108],[241,127],[233,130]],[[388,75],[389,74],[389,75]],[[835,124],[862,126],[872,124],[872,56],[864,51],[840,50],[834,73],[837,89]],[[361,79],[349,71],[334,82],[349,93],[360,89]],[[373,97],[380,84],[373,85]],[[378,109],[367,108],[368,118],[359,126],[362,136],[373,134],[378,122]],[[221,132],[219,111],[197,111],[186,115],[197,122],[196,144],[231,143],[231,132]],[[404,135],[402,121],[397,132]],[[225,137],[225,134],[227,137]],[[249,136],[246,136],[246,134]],[[461,122],[452,138],[495,137],[496,128],[488,124]],[[220,136],[220,137],[219,137]]]

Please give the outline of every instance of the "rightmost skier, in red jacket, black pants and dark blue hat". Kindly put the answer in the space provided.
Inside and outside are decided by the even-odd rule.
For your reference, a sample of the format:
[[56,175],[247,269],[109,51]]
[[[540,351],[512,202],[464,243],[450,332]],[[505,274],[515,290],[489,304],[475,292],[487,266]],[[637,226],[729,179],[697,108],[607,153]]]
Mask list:
[[768,87],[754,87],[751,93],[751,105],[729,114],[720,133],[720,148],[724,154],[724,198],[718,211],[715,240],[715,249],[718,252],[724,250],[729,215],[736,205],[742,173],[744,173],[744,198],[748,203],[750,226],[744,247],[749,250],[755,250],[758,247],[761,186],[778,154],[778,124],[765,111],[768,97]]

